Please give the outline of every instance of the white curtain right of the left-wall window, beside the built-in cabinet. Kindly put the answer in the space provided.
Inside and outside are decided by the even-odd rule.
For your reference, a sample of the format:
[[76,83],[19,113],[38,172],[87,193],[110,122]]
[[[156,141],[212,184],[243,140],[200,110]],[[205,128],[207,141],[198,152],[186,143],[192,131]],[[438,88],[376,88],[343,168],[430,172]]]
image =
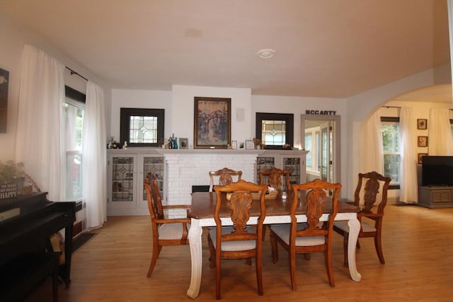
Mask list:
[[84,171],[82,199],[86,204],[87,228],[98,228],[107,220],[104,93],[96,84],[86,83],[86,104],[82,139]]

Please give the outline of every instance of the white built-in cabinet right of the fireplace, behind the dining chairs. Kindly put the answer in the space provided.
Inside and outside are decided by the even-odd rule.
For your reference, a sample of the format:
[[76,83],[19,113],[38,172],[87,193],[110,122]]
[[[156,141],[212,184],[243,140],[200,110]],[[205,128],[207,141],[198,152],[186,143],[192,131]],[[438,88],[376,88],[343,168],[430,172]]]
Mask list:
[[[265,150],[256,158],[256,178],[259,181],[259,171],[270,168],[289,170],[291,173],[289,182],[292,185],[306,181],[305,167],[306,151],[302,150]],[[285,182],[283,190],[287,190]]]

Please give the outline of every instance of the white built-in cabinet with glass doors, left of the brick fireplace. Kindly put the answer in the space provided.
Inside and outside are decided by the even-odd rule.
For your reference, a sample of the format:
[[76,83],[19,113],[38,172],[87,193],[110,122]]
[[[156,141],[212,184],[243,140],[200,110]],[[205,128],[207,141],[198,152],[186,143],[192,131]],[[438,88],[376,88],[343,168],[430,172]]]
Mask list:
[[159,190],[166,196],[164,156],[152,149],[108,149],[107,214],[149,214],[143,179],[153,173]]

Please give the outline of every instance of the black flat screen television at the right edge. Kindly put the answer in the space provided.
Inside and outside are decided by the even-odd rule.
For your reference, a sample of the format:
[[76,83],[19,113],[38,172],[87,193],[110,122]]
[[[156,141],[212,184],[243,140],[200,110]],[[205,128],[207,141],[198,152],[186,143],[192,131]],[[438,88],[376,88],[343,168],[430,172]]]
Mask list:
[[422,185],[453,186],[453,156],[423,156]]

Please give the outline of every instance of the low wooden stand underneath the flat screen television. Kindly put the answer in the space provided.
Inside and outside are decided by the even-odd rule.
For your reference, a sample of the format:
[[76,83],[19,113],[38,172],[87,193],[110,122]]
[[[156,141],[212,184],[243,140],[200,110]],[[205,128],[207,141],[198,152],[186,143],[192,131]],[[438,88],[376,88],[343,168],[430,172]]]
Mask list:
[[430,209],[453,208],[453,186],[419,186],[418,205]]

